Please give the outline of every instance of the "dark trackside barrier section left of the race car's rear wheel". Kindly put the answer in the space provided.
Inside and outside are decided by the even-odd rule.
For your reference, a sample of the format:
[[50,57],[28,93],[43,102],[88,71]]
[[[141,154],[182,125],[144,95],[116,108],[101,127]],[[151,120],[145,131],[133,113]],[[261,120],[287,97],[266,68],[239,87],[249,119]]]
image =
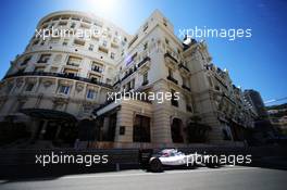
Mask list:
[[[109,155],[108,163],[86,164],[36,164],[37,155]],[[123,168],[137,167],[138,150],[1,150],[0,151],[0,179],[59,177],[67,174],[84,174],[97,172],[111,172]]]

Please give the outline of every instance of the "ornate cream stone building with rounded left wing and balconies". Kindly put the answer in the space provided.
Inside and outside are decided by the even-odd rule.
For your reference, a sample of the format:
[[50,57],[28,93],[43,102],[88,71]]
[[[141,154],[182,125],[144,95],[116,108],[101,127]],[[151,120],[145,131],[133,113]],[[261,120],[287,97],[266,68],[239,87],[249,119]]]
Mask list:
[[[11,62],[0,86],[1,119],[29,124],[34,140],[59,139],[87,118],[97,128],[87,130],[95,132],[93,147],[101,148],[233,143],[253,126],[242,91],[212,63],[205,42],[179,40],[159,11],[135,35],[74,11],[51,13],[37,26],[54,28],[99,35],[43,40],[35,34]],[[109,100],[112,92],[122,99]],[[141,96],[127,99],[125,92]],[[171,96],[144,96],[151,93]]]

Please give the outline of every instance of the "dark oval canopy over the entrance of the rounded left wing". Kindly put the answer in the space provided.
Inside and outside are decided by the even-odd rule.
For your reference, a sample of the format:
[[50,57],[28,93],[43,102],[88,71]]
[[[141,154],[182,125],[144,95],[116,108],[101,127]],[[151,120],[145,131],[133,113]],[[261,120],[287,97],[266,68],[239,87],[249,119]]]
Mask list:
[[30,117],[52,119],[52,121],[64,121],[64,122],[77,122],[76,117],[70,113],[48,110],[48,109],[22,109],[20,111]]

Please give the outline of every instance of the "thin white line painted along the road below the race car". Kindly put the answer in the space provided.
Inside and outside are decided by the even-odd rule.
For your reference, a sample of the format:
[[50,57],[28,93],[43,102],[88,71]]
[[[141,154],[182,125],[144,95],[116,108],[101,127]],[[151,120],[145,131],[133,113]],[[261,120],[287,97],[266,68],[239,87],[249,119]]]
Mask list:
[[80,178],[107,178],[107,177],[133,177],[133,176],[152,176],[152,175],[164,175],[164,174],[185,174],[185,173],[213,173],[213,172],[228,172],[228,170],[254,170],[257,167],[232,167],[228,168],[209,168],[209,169],[195,169],[195,170],[167,170],[165,173],[134,173],[134,174],[111,174],[111,175],[77,175],[77,176],[65,176],[60,179],[80,179]]

